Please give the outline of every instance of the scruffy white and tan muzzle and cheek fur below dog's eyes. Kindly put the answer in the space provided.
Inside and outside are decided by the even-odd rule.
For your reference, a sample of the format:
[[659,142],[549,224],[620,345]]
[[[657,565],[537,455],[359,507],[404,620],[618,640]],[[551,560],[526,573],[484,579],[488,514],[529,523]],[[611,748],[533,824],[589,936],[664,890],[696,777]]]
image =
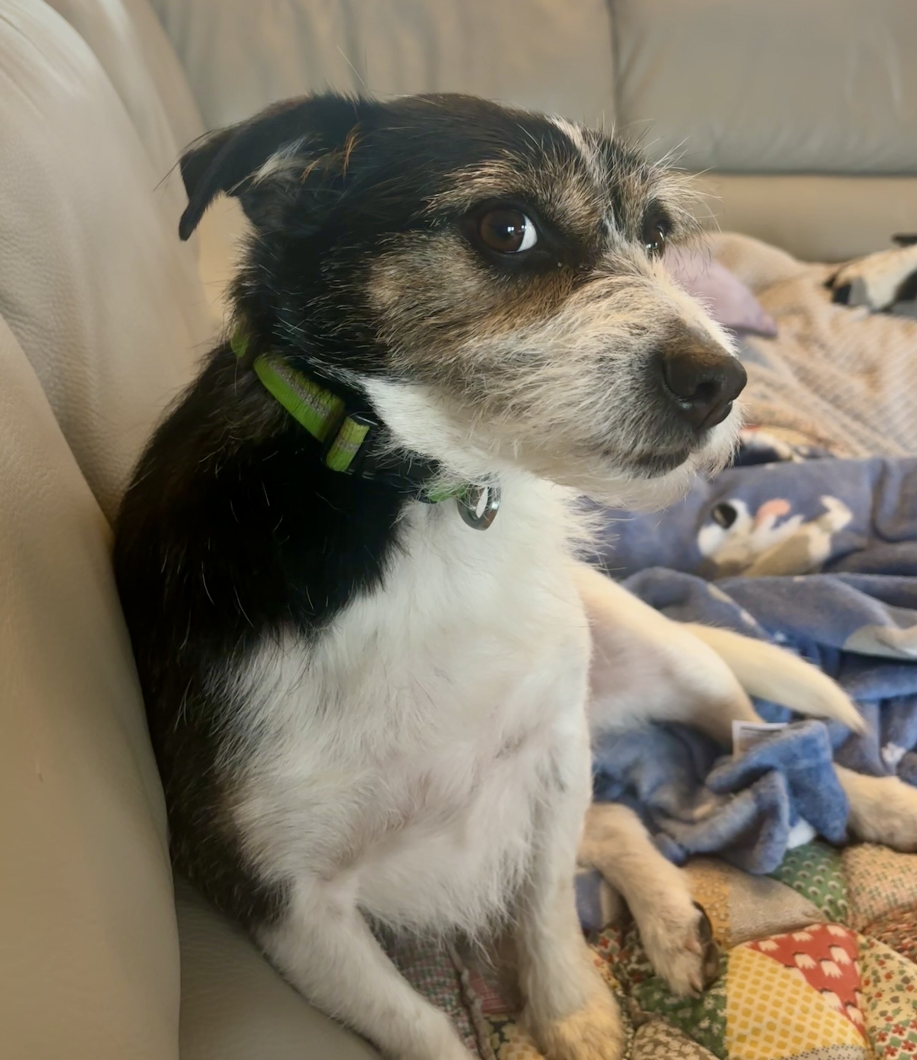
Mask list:
[[[677,201],[681,182],[659,183]],[[700,336],[731,353],[729,335],[611,226],[585,275],[522,289],[495,284],[453,233],[391,242],[369,296],[396,381],[368,389],[407,448],[472,480],[516,465],[630,508],[671,504],[730,458],[738,410],[690,437],[653,377],[660,350]]]

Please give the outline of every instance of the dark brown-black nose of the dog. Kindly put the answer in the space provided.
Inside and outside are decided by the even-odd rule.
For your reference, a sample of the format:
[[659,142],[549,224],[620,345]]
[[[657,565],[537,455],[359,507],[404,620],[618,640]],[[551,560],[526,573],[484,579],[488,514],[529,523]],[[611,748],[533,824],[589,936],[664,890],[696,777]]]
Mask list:
[[706,344],[663,354],[665,389],[694,430],[722,423],[746,378],[738,358]]

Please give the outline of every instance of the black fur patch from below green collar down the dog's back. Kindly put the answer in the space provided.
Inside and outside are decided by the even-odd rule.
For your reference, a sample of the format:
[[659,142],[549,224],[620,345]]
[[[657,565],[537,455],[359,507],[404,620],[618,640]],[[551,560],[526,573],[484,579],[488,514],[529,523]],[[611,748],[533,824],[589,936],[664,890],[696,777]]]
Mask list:
[[230,819],[241,736],[224,678],[265,637],[313,637],[383,577],[405,496],[329,471],[318,443],[223,347],[124,498],[114,568],[177,865],[243,923],[274,919]]

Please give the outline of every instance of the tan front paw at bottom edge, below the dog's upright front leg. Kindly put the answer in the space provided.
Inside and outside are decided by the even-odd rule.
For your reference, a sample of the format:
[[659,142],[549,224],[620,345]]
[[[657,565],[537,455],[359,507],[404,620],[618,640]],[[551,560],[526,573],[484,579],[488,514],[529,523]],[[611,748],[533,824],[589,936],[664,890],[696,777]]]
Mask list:
[[596,976],[589,1001],[571,1015],[540,1020],[533,1012],[523,1014],[523,1024],[546,1060],[621,1060],[625,1036],[614,994]]

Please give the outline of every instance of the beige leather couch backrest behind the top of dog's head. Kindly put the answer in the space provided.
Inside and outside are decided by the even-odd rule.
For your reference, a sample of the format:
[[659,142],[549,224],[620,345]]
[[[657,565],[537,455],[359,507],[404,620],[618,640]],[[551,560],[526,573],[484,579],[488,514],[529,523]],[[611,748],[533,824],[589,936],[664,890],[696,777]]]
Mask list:
[[327,85],[471,91],[711,171],[722,228],[800,258],[917,228],[913,0],[154,4],[211,125]]

